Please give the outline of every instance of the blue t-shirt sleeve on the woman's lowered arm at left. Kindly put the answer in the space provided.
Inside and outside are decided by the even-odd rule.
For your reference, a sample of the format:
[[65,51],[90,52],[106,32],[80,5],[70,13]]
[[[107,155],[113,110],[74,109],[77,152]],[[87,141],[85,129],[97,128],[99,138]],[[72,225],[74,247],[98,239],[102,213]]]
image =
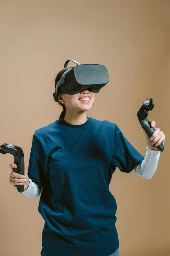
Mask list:
[[39,188],[44,187],[47,177],[46,157],[42,144],[35,134],[33,134],[27,174],[28,178],[35,182]]

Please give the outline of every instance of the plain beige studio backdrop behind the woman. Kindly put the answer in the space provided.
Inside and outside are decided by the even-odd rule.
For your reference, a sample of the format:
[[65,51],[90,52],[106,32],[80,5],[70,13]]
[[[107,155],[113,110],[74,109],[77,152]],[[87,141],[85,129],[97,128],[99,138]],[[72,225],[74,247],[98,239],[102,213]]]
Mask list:
[[[66,60],[106,66],[110,81],[87,115],[116,123],[144,157],[137,111],[153,98],[148,119],[166,135],[157,170],[143,179],[117,168],[109,187],[117,200],[120,256],[170,255],[169,13],[168,0],[0,2],[0,145],[23,149],[26,172],[35,130],[59,119],[54,79]],[[40,255],[40,197],[9,184],[12,162],[12,155],[0,154],[0,255]]]

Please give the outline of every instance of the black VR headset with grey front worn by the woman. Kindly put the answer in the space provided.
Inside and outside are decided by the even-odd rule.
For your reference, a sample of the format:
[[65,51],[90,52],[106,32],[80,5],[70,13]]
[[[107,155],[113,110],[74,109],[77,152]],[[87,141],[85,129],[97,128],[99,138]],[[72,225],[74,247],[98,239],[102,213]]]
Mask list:
[[57,90],[59,87],[61,87],[64,94],[78,94],[88,88],[92,88],[92,92],[94,93],[99,93],[100,89],[109,82],[109,75],[105,66],[80,64],[75,60],[67,60],[64,68],[67,67],[69,61],[77,65],[66,70],[57,82],[55,92],[53,93],[56,102],[59,102],[57,99]]

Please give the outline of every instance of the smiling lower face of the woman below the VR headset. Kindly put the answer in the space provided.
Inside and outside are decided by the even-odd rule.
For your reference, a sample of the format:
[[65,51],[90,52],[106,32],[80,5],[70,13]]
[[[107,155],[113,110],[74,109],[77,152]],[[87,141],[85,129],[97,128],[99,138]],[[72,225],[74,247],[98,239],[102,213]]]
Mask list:
[[[90,98],[90,100],[80,100],[80,98]],[[61,103],[64,103],[66,109],[76,109],[76,110],[90,110],[94,100],[95,100],[95,93],[92,92],[91,88],[88,88],[78,94],[62,94],[59,95],[58,100]]]

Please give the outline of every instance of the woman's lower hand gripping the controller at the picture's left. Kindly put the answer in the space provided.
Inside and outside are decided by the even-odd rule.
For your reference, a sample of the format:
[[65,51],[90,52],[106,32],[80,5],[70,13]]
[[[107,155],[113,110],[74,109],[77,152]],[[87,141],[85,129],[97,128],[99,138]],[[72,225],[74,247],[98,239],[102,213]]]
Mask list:
[[17,168],[15,163],[9,164],[11,171],[9,172],[9,183],[17,189],[17,185],[24,185],[24,191],[28,188],[30,181],[26,171],[24,170],[24,175],[14,172],[14,169]]

